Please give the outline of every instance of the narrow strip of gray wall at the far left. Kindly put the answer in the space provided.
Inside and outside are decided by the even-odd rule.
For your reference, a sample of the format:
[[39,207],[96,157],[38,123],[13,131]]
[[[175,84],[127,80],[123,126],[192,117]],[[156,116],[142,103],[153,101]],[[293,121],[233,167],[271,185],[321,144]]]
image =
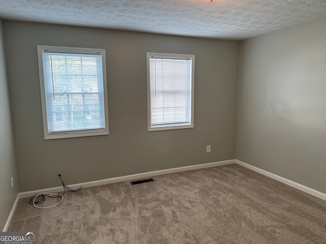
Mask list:
[[[2,20],[0,19],[0,231],[3,230],[18,195],[18,177],[11,128]],[[11,187],[11,176],[14,187]]]

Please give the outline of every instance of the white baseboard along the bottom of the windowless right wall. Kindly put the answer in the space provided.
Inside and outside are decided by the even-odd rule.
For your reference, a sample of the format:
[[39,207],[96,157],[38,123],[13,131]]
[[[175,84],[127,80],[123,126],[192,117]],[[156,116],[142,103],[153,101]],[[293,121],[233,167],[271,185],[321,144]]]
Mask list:
[[241,165],[243,167],[246,167],[248,169],[251,169],[251,170],[253,170],[253,171],[257,172],[257,173],[260,173],[260,174],[263,174],[263,175],[268,176],[270,178],[276,179],[276,180],[278,180],[278,181],[280,181],[280,182],[282,182],[282,183],[284,183],[284,184],[286,184],[288,186],[291,186],[291,187],[293,187],[295,189],[301,190],[301,191],[303,191],[305,193],[308,193],[310,195],[318,197],[318,198],[320,198],[322,200],[326,200],[326,194],[324,194],[322,192],[318,192],[318,191],[316,191],[316,190],[314,190],[312,188],[309,188],[309,187],[306,187],[304,185],[298,184],[298,183],[296,183],[296,182],[294,182],[292,180],[289,180],[289,179],[284,178],[282,176],[279,176],[277,174],[270,173],[270,172],[268,172],[266,170],[257,168],[255,166],[250,165],[250,164],[244,163],[244,162],[242,162],[240,160],[236,159],[235,163],[238,164],[238,165]]

